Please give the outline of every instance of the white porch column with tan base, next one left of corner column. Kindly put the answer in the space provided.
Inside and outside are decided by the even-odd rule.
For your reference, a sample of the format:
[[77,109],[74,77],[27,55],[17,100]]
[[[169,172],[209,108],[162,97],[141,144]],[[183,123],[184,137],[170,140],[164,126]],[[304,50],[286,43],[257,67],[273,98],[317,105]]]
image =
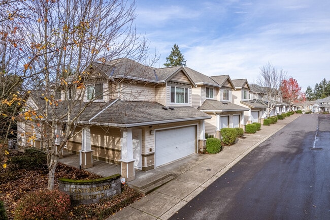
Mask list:
[[81,150],[79,150],[79,167],[90,168],[93,166],[93,151],[90,145],[90,129],[83,128],[81,139]]

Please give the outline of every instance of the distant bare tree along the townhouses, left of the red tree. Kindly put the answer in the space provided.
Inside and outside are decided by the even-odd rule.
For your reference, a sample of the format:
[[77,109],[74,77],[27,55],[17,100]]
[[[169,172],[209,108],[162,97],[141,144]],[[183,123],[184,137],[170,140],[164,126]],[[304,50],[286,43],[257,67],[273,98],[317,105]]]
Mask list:
[[260,68],[260,75],[256,81],[265,93],[262,101],[267,106],[267,117],[270,116],[276,104],[281,101],[280,86],[285,76],[285,71],[277,70],[270,62]]

